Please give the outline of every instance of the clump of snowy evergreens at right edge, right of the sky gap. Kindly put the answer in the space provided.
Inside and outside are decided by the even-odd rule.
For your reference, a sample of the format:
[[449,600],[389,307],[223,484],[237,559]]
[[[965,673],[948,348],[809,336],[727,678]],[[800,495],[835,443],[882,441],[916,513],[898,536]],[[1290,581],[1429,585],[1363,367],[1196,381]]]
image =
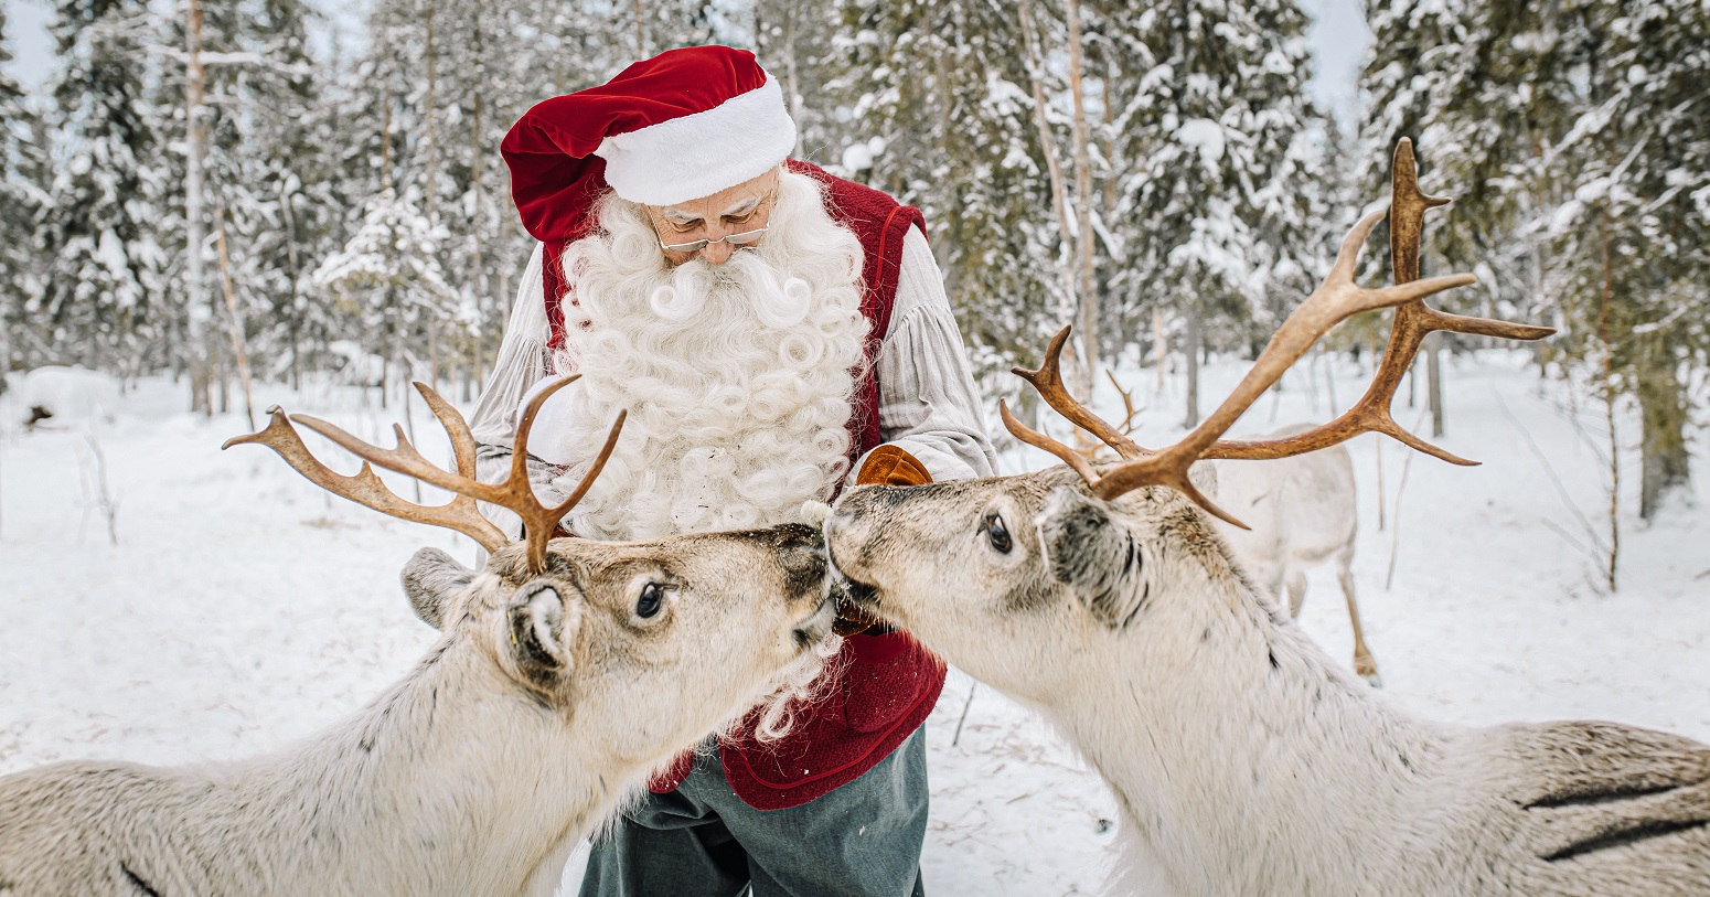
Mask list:
[[1548,314],[1563,333],[1546,352],[1611,403],[1636,400],[1652,516],[1686,482],[1689,384],[1710,352],[1710,14],[1688,0],[1407,0],[1373,5],[1370,22],[1361,155],[1419,137],[1455,195],[1426,258],[1483,285],[1445,301]]

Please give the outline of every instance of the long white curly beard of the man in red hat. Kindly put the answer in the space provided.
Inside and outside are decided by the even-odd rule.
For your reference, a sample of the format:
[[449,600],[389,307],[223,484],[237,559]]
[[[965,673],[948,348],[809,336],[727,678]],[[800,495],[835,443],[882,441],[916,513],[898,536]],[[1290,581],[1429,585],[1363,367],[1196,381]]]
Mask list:
[[629,419],[571,531],[605,540],[800,521],[848,472],[862,345],[862,248],[819,185],[783,173],[770,231],[725,265],[672,267],[640,205],[607,196],[600,232],[564,253],[557,372],[530,451],[564,494]]

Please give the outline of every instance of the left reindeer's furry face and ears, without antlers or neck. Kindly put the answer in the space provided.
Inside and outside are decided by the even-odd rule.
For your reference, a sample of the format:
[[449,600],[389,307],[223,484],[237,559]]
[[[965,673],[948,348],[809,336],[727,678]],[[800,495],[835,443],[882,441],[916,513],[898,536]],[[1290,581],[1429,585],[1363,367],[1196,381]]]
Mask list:
[[653,542],[557,538],[469,571],[438,548],[404,567],[416,613],[472,639],[534,701],[604,726],[652,762],[754,706],[831,630],[824,542],[787,525]]

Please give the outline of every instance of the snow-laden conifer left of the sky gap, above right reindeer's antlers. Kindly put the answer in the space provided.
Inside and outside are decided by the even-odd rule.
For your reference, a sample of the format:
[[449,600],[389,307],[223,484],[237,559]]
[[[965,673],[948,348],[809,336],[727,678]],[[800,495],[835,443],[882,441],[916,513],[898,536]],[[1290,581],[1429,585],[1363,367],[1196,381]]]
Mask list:
[[1194,424],[1206,335],[1259,342],[1330,251],[1306,22],[1293,0],[1096,9],[1117,179],[1106,220],[1129,248],[1110,284],[1129,314],[1151,301],[1180,318]]

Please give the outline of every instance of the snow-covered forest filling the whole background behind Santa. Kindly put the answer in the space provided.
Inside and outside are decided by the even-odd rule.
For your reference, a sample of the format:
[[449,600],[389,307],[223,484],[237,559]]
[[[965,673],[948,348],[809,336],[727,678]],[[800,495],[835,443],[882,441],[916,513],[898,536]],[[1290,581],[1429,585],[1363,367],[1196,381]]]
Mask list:
[[[320,15],[58,0],[46,84],[0,75],[7,371],[169,372],[203,412],[245,378],[381,398],[424,378],[467,400],[530,251],[508,126],[720,41],[785,82],[799,157],[925,212],[988,391],[1074,321],[1082,391],[1117,359],[1161,361],[1202,413],[1202,359],[1264,343],[1412,137],[1424,188],[1455,198],[1424,272],[1479,275],[1447,308],[1560,328],[1537,371],[1606,407],[1607,444],[1642,448],[1640,516],[1691,475],[1710,364],[1696,0],[1370,3],[1353,128],[1306,91],[1293,0],[374,0],[359,53],[318,46]],[[1378,326],[1325,350],[1377,352]],[[1442,357],[1477,342],[1443,337],[1419,371],[1436,432]]]

